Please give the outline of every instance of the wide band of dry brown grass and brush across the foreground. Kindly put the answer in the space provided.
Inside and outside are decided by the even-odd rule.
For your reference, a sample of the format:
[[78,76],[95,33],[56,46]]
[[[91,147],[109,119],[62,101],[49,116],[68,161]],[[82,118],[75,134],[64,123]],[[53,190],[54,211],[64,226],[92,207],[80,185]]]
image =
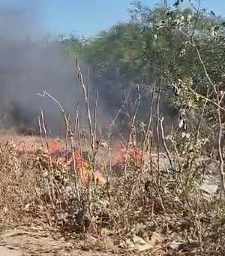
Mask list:
[[7,226],[39,221],[67,237],[92,233],[95,242],[86,247],[101,250],[109,250],[108,237],[110,251],[224,254],[223,204],[205,200],[197,187],[182,190],[174,173],[157,169],[156,159],[143,168],[136,148],[119,151],[113,166],[121,175],[110,177],[98,165],[102,182],[97,184],[82,152],[74,149],[72,156],[56,141],[31,148],[0,146],[0,210]]

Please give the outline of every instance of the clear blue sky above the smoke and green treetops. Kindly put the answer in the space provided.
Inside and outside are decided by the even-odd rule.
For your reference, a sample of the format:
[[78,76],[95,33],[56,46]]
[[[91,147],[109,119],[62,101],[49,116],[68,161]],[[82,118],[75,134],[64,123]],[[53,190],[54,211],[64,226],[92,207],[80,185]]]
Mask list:
[[[225,16],[224,0],[201,0],[202,7]],[[0,5],[38,5],[44,32],[50,34],[95,35],[118,21],[127,20],[132,0],[0,0]],[[142,0],[151,8],[157,2]],[[169,4],[175,0],[167,1]]]

